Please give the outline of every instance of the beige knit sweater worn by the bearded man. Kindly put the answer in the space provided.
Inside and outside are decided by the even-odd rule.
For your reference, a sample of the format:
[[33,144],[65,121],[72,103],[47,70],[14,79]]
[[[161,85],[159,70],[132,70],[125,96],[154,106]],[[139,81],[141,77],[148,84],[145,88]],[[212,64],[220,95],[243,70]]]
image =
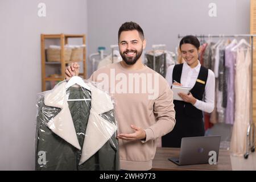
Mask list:
[[120,63],[98,69],[90,80],[101,82],[112,95],[118,133],[134,133],[131,125],[146,131],[146,140],[119,139],[121,169],[151,169],[156,139],[175,126],[173,93],[167,81],[146,66],[131,71]]

